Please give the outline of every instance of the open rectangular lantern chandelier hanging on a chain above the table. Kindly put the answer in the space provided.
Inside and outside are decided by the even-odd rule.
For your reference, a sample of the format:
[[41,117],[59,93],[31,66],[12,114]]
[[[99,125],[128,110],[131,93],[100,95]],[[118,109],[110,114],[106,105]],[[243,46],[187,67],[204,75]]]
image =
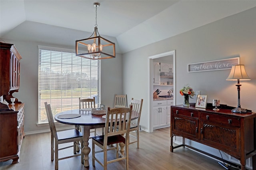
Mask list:
[[89,38],[76,40],[76,56],[91,60],[115,58],[115,43],[103,38],[98,32],[97,7],[100,3],[94,2],[93,5],[96,8],[94,32]]

